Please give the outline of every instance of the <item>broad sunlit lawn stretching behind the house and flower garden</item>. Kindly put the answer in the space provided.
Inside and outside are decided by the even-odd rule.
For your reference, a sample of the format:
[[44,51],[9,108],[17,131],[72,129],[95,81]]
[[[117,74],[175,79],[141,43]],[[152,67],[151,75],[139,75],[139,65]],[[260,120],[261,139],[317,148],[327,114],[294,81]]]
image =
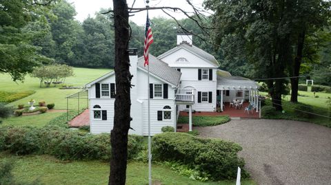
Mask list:
[[[83,87],[90,81],[99,78],[103,74],[110,72],[112,69],[87,69],[74,67],[74,76],[66,79],[66,84],[74,85],[74,87]],[[19,104],[28,105],[30,99],[36,100],[36,105],[39,101],[45,100],[46,103],[54,102],[54,109],[66,109],[66,96],[74,94],[81,89],[59,89],[59,87],[39,87],[39,79],[26,76],[24,83],[14,83],[8,74],[0,74],[0,89],[1,91],[36,91],[35,94],[11,102],[9,105],[17,107]],[[86,107],[87,100],[80,101],[80,107]],[[69,109],[77,109],[77,99],[69,100]]]

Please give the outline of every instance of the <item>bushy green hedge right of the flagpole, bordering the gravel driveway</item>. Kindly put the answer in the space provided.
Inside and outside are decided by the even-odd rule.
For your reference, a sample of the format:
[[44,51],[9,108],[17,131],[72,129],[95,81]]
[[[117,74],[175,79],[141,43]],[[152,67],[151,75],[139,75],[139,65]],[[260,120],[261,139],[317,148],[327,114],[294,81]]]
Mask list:
[[[166,132],[154,135],[153,157],[158,161],[179,162],[189,168],[208,173],[212,180],[234,179],[243,158],[237,153],[241,146],[234,142],[197,138],[187,133]],[[241,177],[248,177],[245,170]]]

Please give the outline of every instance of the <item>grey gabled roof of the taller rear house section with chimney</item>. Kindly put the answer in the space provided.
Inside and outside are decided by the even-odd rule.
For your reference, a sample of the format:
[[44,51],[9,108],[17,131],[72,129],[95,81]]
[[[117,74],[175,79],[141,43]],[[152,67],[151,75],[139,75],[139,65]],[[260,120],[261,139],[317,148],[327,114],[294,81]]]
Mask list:
[[214,56],[212,56],[212,54],[209,54],[208,52],[201,50],[197,46],[188,45],[187,43],[181,43],[180,45],[177,45],[176,47],[172,48],[168,52],[165,52],[165,53],[161,54],[160,56],[157,56],[157,58],[163,58],[163,56],[167,56],[168,54],[174,52],[175,50],[178,50],[181,47],[185,48],[186,50],[189,50],[190,52],[192,52],[194,54],[197,54],[201,58],[204,58],[206,61],[209,61],[210,63],[219,67],[219,63],[217,62],[216,58]]

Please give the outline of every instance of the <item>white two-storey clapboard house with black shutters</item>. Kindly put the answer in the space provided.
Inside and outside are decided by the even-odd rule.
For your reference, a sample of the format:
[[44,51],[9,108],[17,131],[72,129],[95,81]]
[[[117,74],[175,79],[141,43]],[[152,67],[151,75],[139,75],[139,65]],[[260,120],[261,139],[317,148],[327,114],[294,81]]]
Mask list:
[[[137,49],[130,50],[131,127],[130,133],[148,135],[148,72]],[[211,54],[192,45],[192,36],[177,35],[177,47],[160,56],[150,54],[150,124],[151,134],[164,126],[176,128],[179,111],[216,111],[223,102],[241,98],[257,105],[257,84],[247,78],[217,75],[219,63]],[[90,107],[91,133],[109,133],[113,126],[114,72],[86,85]],[[257,107],[257,111],[259,107]]]

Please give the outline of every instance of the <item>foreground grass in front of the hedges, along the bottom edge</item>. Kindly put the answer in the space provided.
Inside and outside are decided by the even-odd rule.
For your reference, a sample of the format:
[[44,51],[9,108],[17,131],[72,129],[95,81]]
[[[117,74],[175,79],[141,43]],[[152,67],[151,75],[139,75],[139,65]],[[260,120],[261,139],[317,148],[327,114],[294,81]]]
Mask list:
[[[1,160],[14,162],[14,177],[19,182],[32,182],[39,179],[43,184],[107,184],[109,163],[99,161],[68,162],[57,160],[48,155],[17,156],[0,153]],[[222,185],[234,182],[198,182],[175,173],[168,167],[152,165],[153,182],[161,184]],[[141,162],[129,162],[127,184],[148,184],[148,165]],[[255,184],[251,180],[241,182],[243,185]]]

